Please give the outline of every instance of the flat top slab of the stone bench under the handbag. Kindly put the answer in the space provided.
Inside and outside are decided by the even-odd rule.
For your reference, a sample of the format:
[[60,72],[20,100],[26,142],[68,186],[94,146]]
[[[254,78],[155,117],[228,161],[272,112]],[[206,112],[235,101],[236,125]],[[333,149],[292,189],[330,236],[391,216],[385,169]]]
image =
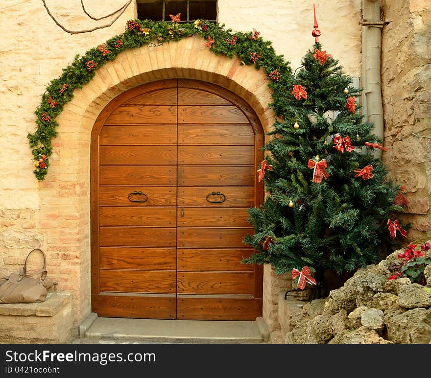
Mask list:
[[54,316],[71,303],[71,294],[48,293],[40,303],[1,303],[0,315]]

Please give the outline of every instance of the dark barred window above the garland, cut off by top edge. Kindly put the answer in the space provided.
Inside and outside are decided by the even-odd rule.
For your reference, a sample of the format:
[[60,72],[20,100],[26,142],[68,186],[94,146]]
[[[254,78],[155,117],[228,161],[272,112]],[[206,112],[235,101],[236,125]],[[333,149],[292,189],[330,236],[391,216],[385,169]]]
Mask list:
[[171,21],[169,15],[181,13],[181,22],[217,21],[216,0],[137,0],[138,19]]

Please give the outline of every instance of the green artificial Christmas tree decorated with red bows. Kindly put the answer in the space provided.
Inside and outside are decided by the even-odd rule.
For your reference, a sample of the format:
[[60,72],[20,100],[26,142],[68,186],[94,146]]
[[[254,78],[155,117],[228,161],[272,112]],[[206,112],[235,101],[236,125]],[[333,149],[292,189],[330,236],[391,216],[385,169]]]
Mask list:
[[263,147],[267,196],[248,210],[255,234],[244,242],[256,253],[244,262],[277,273],[307,265],[322,282],[325,270],[353,272],[384,256],[390,213],[403,211],[394,204],[400,187],[375,157],[374,148],[385,148],[357,112],[360,91],[351,83],[317,41],[293,75],[273,80],[282,120]]

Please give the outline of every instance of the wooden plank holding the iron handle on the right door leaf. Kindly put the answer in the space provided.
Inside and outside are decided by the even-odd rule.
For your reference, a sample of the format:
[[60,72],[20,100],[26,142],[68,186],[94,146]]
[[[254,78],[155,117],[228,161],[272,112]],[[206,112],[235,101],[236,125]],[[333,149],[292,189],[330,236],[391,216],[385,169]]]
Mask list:
[[[210,203],[206,200],[213,191],[223,193],[226,200],[222,203]],[[210,208],[220,207],[252,207],[254,205],[254,188],[229,188],[229,187],[181,187],[178,188],[178,206],[192,207],[205,206]]]

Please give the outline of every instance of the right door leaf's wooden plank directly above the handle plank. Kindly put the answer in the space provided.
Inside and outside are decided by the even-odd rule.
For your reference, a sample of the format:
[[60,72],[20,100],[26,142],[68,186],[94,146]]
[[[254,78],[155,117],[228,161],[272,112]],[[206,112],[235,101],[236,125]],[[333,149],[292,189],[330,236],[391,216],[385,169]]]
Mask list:
[[178,185],[247,185],[254,184],[254,166],[179,166]]

